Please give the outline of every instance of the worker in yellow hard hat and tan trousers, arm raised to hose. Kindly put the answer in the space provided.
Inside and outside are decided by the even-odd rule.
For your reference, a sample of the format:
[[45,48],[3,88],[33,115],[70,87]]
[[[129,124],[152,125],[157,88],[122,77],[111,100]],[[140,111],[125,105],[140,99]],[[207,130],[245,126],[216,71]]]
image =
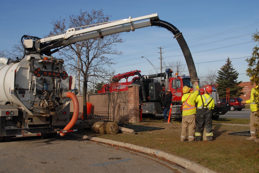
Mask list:
[[181,132],[181,141],[186,141],[187,128],[189,127],[188,132],[188,141],[195,142],[195,114],[196,114],[196,106],[195,100],[199,95],[199,85],[198,82],[195,82],[196,88],[193,93],[190,92],[190,88],[188,86],[183,87],[183,117],[182,117],[182,132]]

